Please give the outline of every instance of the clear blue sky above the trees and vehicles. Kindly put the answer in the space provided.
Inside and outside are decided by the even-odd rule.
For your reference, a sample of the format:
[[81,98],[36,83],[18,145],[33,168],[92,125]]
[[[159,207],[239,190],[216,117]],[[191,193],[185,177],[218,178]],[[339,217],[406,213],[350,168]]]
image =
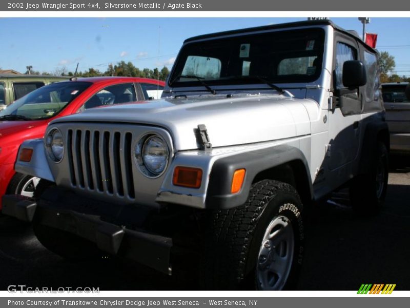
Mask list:
[[[171,68],[183,41],[224,30],[303,21],[307,18],[0,18],[1,69],[54,72],[65,67],[105,71],[109,63],[131,61],[138,68]],[[356,30],[356,17],[331,18]],[[393,73],[410,76],[410,17],[371,18],[366,32],[378,33],[376,48],[395,56]]]

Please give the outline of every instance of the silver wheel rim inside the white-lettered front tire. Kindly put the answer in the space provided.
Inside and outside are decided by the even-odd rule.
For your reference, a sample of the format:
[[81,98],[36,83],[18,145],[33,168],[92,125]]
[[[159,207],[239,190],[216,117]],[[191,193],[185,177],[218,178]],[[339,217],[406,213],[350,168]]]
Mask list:
[[291,221],[285,216],[275,217],[259,249],[256,275],[260,290],[282,290],[291,271],[294,250]]

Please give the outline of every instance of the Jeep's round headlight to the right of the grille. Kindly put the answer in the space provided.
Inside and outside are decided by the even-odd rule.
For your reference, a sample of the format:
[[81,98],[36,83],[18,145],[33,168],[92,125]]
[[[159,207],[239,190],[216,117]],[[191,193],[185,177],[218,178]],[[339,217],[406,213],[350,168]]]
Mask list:
[[135,147],[135,158],[142,173],[149,177],[158,177],[168,164],[169,151],[165,140],[151,135],[140,140]]

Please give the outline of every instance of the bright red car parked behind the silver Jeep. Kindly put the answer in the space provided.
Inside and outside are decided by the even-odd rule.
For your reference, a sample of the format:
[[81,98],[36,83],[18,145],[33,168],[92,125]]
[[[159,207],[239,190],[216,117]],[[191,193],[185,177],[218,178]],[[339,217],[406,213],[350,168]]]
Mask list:
[[157,99],[162,81],[131,77],[72,78],[41,87],[0,111],[0,209],[4,194],[31,197],[38,178],[14,171],[18,147],[43,138],[51,120],[104,105]]

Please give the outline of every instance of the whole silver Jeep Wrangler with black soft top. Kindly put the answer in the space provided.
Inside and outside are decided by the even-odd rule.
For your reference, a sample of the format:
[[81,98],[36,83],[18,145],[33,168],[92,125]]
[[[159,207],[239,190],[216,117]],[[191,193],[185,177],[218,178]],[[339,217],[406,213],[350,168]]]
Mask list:
[[342,186],[361,214],[383,202],[379,86],[378,52],[331,21],[189,38],[162,99],[56,119],[25,142],[15,168],[43,180],[32,199],[4,196],[3,213],[66,258],[108,253],[217,290],[291,288],[302,204]]

